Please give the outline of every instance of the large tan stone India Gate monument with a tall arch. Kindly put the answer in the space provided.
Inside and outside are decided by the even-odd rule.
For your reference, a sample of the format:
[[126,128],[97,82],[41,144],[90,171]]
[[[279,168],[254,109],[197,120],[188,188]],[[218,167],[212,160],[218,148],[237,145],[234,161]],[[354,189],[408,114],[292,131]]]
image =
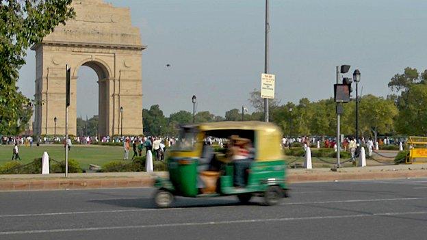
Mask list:
[[[142,134],[142,45],[129,8],[102,0],[76,0],[76,16],[59,25],[31,50],[36,51],[35,135],[65,134],[66,64],[70,66],[68,134],[76,135],[77,72],[98,76],[98,135]],[[92,79],[90,79],[92,80]],[[96,81],[93,79],[92,81]],[[82,96],[79,96],[81,98]],[[84,96],[83,96],[84,99]],[[93,104],[93,103],[87,103]],[[123,111],[120,112],[120,107]]]

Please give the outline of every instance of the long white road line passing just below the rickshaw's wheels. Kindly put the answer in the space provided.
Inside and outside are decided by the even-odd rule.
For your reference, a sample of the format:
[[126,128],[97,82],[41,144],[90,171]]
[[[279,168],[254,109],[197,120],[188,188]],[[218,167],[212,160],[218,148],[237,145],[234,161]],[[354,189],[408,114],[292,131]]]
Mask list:
[[[376,199],[361,199],[361,200],[333,200],[333,201],[318,201],[318,202],[284,202],[280,205],[305,205],[305,204],[328,204],[328,203],[346,203],[346,202],[383,202],[383,201],[399,201],[399,200],[423,200],[426,198],[376,198]],[[233,207],[222,206],[222,207]],[[122,209],[122,210],[101,210],[101,211],[76,211],[76,212],[60,212],[60,213],[26,213],[26,214],[10,214],[0,215],[1,217],[37,217],[37,216],[54,216],[54,215],[77,215],[77,214],[91,214],[91,213],[129,213],[129,212],[142,212],[142,211],[175,211],[183,209],[205,208],[205,206],[194,207],[175,207],[170,209]]]

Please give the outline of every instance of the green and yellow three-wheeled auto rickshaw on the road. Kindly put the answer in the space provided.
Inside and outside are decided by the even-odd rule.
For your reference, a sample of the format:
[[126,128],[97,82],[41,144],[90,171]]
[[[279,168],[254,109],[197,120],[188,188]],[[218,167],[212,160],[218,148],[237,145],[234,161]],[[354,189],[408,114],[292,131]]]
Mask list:
[[[235,161],[231,161],[227,150],[230,142],[226,139],[236,135],[251,143],[251,161],[244,172],[244,187],[233,184]],[[243,203],[253,196],[262,196],[266,205],[277,204],[287,197],[281,137],[279,127],[268,122],[209,122],[182,126],[177,143],[167,151],[169,179],[157,177],[155,180],[155,204],[160,208],[168,207],[174,196],[231,195]]]

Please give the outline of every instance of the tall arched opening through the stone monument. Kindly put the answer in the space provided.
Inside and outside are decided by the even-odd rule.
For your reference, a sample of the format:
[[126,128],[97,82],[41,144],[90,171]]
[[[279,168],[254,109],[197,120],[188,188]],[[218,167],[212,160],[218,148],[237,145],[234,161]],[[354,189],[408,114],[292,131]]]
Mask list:
[[99,62],[86,62],[77,72],[76,126],[78,136],[107,135],[108,72]]

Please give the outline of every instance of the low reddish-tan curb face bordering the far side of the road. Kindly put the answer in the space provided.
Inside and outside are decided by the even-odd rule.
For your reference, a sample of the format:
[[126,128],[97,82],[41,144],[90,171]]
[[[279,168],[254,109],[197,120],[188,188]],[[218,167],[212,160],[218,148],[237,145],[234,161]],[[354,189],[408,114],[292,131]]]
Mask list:
[[[157,175],[164,176],[164,172]],[[15,175],[16,176],[16,175]],[[398,170],[381,172],[288,172],[288,183],[358,181],[393,178],[425,178],[427,170]],[[0,180],[0,191],[31,191],[58,189],[103,189],[126,187],[152,187],[155,176],[73,176],[70,178],[3,178]]]

